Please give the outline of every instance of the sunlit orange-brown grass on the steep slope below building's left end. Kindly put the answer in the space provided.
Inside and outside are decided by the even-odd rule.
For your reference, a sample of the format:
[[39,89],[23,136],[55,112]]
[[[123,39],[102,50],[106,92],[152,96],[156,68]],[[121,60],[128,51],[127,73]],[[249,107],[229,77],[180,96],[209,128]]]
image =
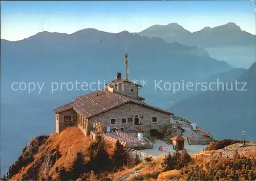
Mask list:
[[[51,150],[55,149],[59,151],[61,156],[56,161],[49,174],[53,176],[53,179],[57,179],[58,175],[55,173],[56,168],[63,166],[66,170],[69,170],[76,159],[77,153],[80,152],[84,155],[89,155],[89,148],[94,142],[94,140],[84,137],[83,132],[78,127],[69,127],[59,134],[54,133],[50,135],[46,143],[42,145],[40,152],[34,155],[35,160],[27,167],[22,168],[22,171],[12,177],[12,180],[20,180],[22,175],[26,174],[32,165],[38,163],[42,164],[44,157],[49,154]],[[88,160],[87,156],[84,159]],[[40,174],[39,171],[38,175]]]

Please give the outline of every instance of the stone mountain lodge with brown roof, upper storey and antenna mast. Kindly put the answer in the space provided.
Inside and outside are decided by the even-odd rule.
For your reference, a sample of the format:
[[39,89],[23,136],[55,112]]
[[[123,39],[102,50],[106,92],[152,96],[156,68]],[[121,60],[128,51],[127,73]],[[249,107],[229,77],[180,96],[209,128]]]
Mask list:
[[118,72],[116,79],[106,86],[103,90],[80,96],[74,102],[54,109],[56,132],[68,126],[78,126],[88,135],[90,131],[95,131],[95,121],[101,123],[104,132],[113,129],[131,132],[136,128],[162,131],[170,125],[170,115],[173,114],[144,102],[145,99],[139,96],[141,85],[128,80],[127,64],[126,79]]

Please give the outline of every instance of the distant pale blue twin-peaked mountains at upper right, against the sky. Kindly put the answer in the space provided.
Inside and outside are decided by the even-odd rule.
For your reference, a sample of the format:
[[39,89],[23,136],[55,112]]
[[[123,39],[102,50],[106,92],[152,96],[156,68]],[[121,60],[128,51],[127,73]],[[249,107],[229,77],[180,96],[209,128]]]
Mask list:
[[214,28],[205,27],[197,32],[189,32],[177,23],[154,25],[139,33],[141,36],[159,37],[166,42],[178,42],[196,46],[254,46],[255,35],[242,31],[233,22]]

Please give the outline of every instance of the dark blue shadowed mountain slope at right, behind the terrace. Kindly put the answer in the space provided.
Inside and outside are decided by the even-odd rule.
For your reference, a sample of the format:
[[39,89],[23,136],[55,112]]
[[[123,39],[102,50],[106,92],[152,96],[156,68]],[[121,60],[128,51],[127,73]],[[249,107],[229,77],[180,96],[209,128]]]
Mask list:
[[[239,82],[237,89],[235,82]],[[246,83],[245,87],[244,83]],[[228,83],[220,85],[219,91],[208,90],[187,98],[169,110],[174,114],[189,118],[211,133],[216,139],[256,140],[256,63],[244,71],[239,78],[233,79],[233,88]]]

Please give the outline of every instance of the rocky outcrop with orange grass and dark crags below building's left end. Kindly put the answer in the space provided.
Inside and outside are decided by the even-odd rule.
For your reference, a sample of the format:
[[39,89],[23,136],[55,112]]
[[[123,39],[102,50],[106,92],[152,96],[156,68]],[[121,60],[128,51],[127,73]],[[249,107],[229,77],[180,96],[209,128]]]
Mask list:
[[[94,140],[84,137],[78,127],[61,133],[34,137],[10,167],[10,180],[67,180],[74,173],[78,153],[87,159]],[[77,176],[77,175],[76,175]],[[79,175],[78,175],[79,176]],[[77,176],[77,177],[78,177]]]

